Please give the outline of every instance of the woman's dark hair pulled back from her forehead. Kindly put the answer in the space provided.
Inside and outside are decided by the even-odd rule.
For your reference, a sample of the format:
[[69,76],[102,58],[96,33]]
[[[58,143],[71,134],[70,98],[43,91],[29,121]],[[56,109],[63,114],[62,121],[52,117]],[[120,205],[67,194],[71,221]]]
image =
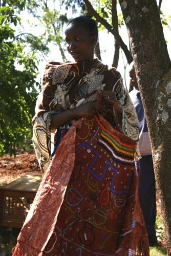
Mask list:
[[98,37],[97,24],[95,20],[91,18],[91,16],[89,15],[79,16],[71,19],[69,22],[69,24],[75,24],[75,23],[83,25],[87,29],[89,35],[96,35]]

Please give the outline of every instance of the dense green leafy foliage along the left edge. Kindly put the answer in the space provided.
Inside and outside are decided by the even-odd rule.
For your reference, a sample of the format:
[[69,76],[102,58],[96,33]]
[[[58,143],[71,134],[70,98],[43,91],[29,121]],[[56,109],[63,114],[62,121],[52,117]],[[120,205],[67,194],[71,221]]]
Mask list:
[[31,144],[37,60],[33,53],[25,55],[22,44],[14,40],[12,26],[20,22],[15,13],[24,8],[25,1],[3,4],[0,8],[0,155],[11,155]]

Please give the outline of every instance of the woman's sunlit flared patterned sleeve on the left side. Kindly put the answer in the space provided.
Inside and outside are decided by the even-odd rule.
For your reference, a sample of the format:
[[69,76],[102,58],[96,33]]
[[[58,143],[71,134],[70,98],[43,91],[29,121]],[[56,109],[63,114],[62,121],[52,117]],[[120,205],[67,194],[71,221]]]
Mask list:
[[42,91],[38,95],[33,123],[33,144],[42,174],[46,172],[51,158],[51,122],[54,114],[50,103],[54,99],[56,84],[53,73],[59,62],[48,63],[42,79]]

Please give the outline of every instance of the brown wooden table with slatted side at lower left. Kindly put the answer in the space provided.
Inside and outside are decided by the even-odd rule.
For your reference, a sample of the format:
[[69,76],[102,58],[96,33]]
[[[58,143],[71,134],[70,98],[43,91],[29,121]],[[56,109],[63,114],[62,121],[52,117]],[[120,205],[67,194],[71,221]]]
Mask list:
[[21,228],[42,176],[28,174],[0,186],[0,226]]

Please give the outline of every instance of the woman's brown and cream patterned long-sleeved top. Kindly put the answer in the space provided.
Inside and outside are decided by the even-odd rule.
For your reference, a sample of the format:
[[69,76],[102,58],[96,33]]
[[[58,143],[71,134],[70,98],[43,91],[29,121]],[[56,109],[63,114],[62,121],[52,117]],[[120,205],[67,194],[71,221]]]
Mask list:
[[[121,75],[115,68],[103,65],[98,59],[68,64],[50,62],[46,66],[42,91],[38,96],[33,118],[33,142],[42,172],[48,168],[52,154],[50,126],[53,115],[97,100],[97,90],[113,90],[116,93],[123,111],[123,133],[138,140],[135,108],[123,87]],[[111,105],[106,106],[103,116],[115,127],[115,113]],[[65,133],[65,129],[68,130],[75,121],[61,126],[59,133]]]

